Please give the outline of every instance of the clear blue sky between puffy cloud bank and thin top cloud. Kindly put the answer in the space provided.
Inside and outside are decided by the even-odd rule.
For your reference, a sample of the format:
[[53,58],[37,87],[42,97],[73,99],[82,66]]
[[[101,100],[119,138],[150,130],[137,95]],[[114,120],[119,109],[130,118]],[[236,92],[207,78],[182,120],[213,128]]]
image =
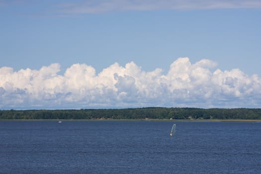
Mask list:
[[261,76],[261,10],[158,10],[57,16],[45,5],[0,6],[0,67],[91,65],[99,73],[134,61],[165,73],[178,57],[216,61]]

